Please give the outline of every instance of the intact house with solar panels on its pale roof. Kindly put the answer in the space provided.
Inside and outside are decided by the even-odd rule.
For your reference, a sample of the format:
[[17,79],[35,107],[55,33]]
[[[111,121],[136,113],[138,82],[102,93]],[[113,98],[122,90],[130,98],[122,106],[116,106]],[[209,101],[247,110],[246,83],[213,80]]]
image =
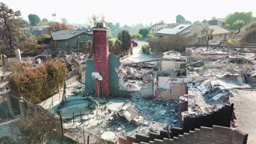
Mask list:
[[[202,37],[202,40],[205,39],[205,35],[203,35],[202,31],[205,28],[213,29],[212,37],[210,38],[211,43],[217,43],[219,40],[225,40],[228,38],[228,34],[231,32],[219,27],[219,26],[210,26],[210,25],[192,25],[187,23],[174,23],[176,25],[166,26],[164,28],[159,29],[156,32],[156,37],[170,37],[174,35],[180,35],[182,37],[193,37],[191,41],[191,45],[196,44],[197,37]],[[195,37],[196,36],[196,37]]]

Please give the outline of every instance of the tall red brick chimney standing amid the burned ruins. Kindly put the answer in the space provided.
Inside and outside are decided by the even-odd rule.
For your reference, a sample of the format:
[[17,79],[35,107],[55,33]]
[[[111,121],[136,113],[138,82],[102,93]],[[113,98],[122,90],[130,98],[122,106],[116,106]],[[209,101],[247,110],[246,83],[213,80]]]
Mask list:
[[107,43],[108,28],[104,23],[94,27],[94,71],[102,76],[102,83],[95,82],[95,95],[109,96],[109,49]]

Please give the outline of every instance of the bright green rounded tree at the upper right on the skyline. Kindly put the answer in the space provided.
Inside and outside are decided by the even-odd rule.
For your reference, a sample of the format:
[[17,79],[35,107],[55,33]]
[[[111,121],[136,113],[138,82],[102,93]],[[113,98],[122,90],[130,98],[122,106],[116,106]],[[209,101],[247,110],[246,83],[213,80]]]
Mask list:
[[234,23],[237,20],[243,20],[245,22],[245,25],[247,25],[248,23],[252,22],[252,20],[253,20],[252,11],[250,11],[248,13],[236,12],[234,14],[229,14],[227,19],[225,20],[225,24],[229,24],[230,27],[232,27],[234,29],[234,28],[236,28],[234,26]]

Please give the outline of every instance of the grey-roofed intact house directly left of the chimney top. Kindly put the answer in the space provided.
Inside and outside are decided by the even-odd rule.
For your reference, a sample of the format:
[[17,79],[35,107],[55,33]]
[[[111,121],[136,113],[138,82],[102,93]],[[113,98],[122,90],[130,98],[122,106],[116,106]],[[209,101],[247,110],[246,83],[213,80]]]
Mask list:
[[51,32],[51,40],[60,49],[90,49],[92,47],[92,30],[60,30]]

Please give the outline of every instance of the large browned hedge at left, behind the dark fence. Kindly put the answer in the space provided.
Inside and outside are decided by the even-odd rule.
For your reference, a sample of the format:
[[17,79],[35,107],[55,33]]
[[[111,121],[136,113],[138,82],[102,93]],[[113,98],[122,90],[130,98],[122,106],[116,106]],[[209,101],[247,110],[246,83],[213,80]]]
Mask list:
[[38,104],[57,92],[63,86],[66,76],[65,65],[61,62],[48,62],[35,69],[11,75],[9,86],[15,96]]

